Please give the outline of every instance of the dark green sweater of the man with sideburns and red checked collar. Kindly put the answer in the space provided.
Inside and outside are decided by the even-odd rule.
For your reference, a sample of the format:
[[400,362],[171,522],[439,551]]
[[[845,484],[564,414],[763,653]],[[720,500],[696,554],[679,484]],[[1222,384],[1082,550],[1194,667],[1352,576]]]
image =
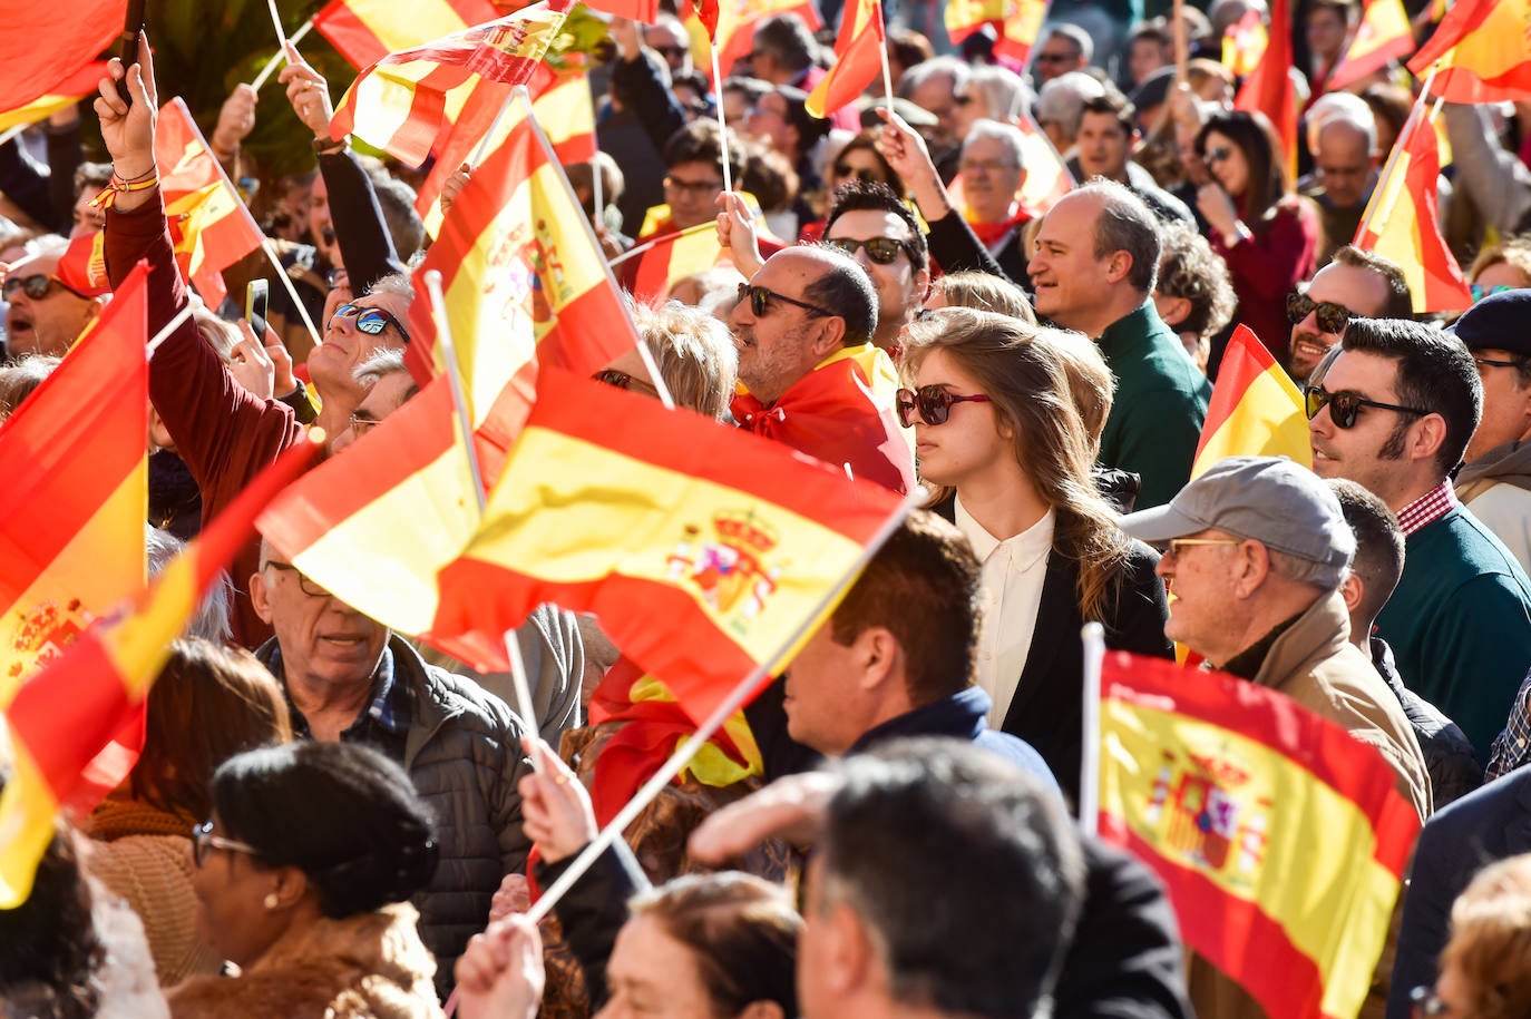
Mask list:
[[1520,565],[1456,506],[1409,536],[1404,575],[1376,624],[1404,684],[1487,762],[1531,666],[1531,580]]

